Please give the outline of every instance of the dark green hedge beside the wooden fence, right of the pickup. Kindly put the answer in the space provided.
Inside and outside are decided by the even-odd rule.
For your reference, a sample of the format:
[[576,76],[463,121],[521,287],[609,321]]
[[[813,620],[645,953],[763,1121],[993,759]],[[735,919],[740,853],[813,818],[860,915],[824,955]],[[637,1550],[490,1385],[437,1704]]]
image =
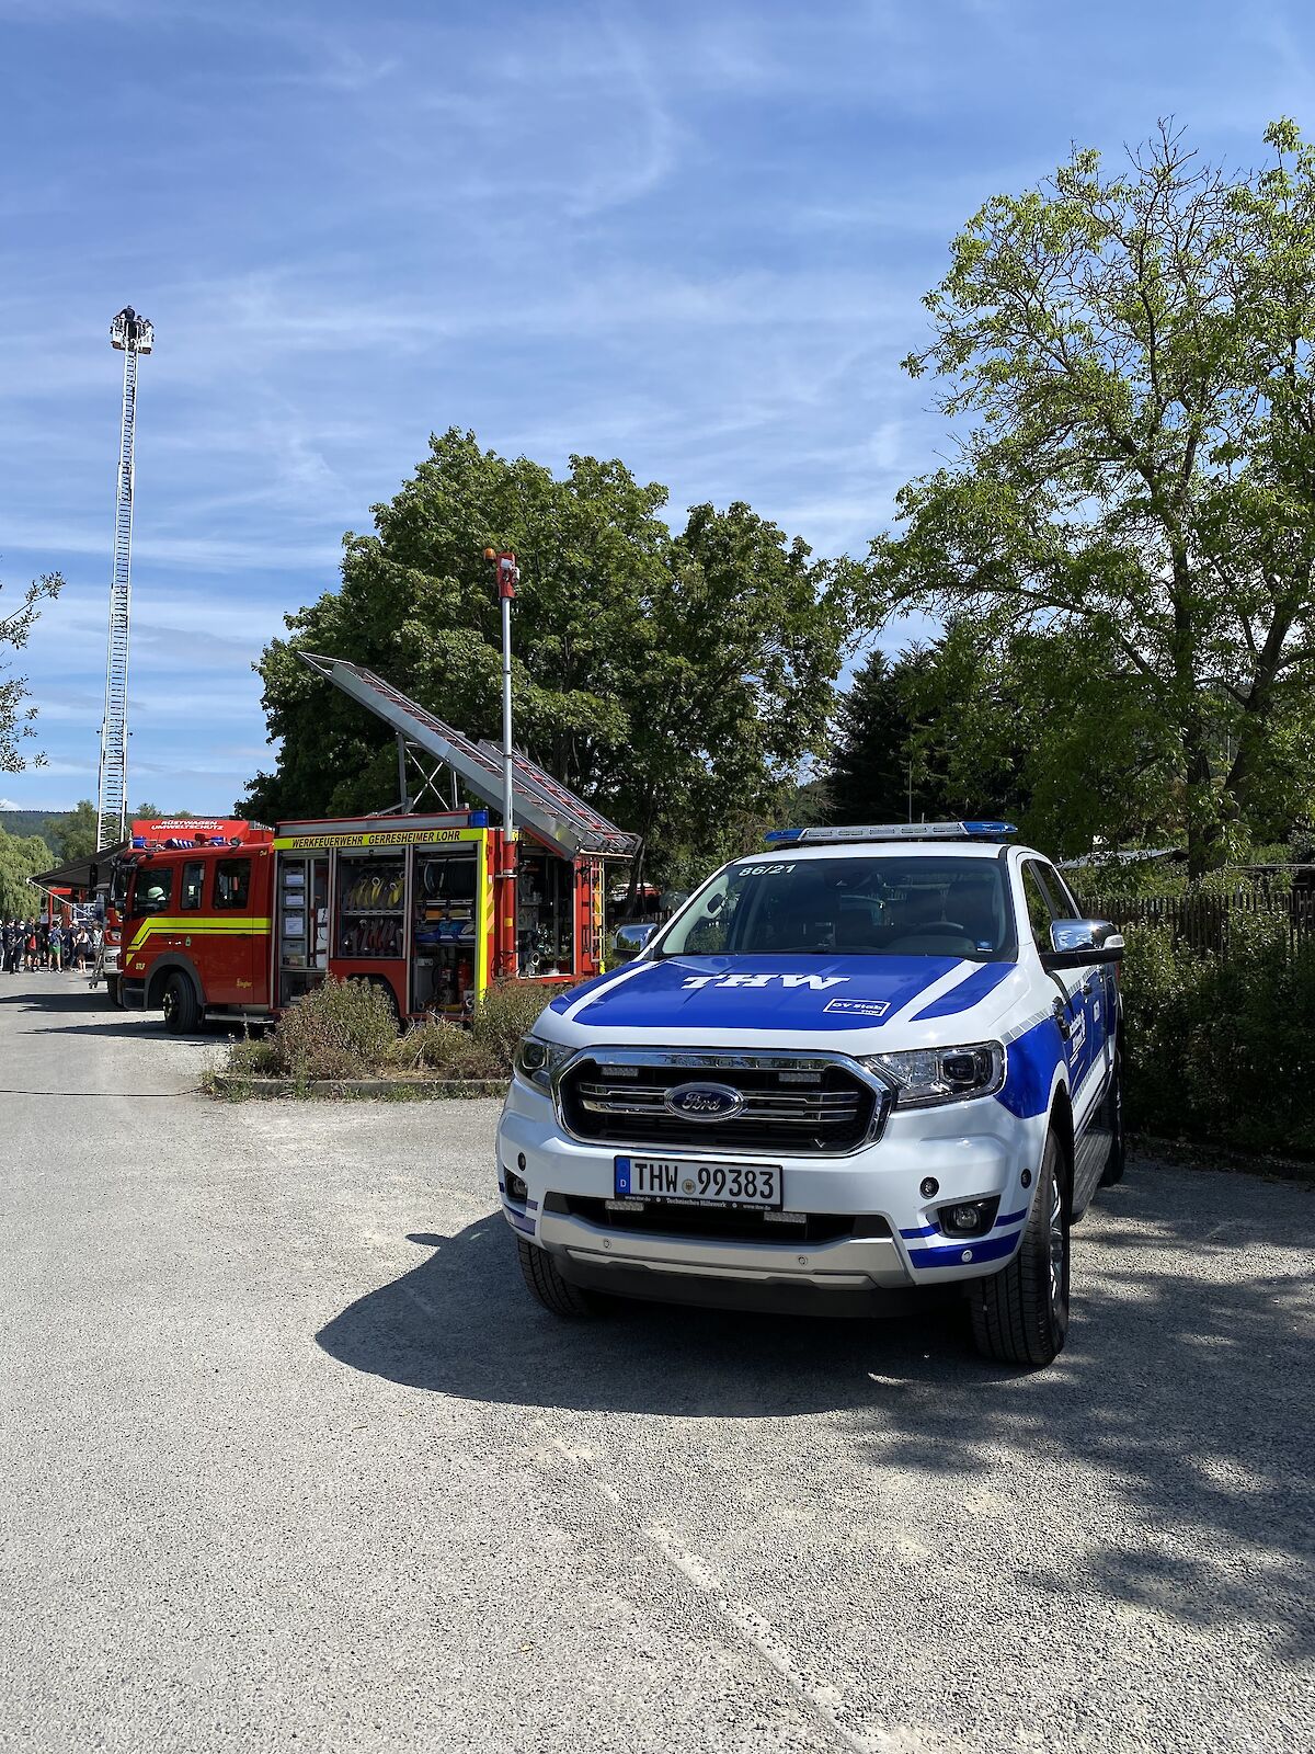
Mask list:
[[1129,1126],[1315,1156],[1315,938],[1234,912],[1217,958],[1129,928],[1122,991]]

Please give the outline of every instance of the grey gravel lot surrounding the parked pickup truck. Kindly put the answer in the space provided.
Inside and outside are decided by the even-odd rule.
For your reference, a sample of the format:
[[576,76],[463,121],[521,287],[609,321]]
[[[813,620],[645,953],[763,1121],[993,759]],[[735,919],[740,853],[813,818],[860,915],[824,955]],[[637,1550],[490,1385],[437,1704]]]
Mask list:
[[563,1326],[496,1105],[0,977],[0,1747],[1306,1750],[1315,1196],[1134,1163],[1059,1365]]

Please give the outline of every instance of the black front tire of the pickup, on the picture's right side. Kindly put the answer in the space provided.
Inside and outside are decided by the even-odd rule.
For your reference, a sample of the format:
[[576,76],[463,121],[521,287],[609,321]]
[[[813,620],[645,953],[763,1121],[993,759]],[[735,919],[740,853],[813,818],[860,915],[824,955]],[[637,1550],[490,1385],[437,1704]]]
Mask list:
[[1003,1273],[968,1289],[973,1340],[999,1365],[1054,1363],[1068,1337],[1068,1223],[1059,1138],[1047,1133],[1022,1245]]

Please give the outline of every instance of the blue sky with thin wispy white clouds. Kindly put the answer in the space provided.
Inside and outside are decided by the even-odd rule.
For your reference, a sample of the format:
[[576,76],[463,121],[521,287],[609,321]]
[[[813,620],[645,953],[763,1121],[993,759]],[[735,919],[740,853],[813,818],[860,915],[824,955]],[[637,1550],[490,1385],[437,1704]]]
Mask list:
[[252,658],[430,431],[861,553],[945,449],[898,361],[985,196],[1162,114],[1234,165],[1315,128],[1310,9],[1266,0],[0,0],[0,577],[68,581],[23,807],[95,791],[121,305],[130,789],[224,810]]

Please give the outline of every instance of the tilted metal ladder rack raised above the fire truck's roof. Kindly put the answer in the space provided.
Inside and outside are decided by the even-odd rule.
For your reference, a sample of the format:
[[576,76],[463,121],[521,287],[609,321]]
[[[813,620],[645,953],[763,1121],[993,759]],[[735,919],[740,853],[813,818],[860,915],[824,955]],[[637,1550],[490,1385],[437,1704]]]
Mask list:
[[[473,796],[494,810],[501,809],[501,751],[494,744],[475,744],[463,737],[438,714],[421,707],[365,665],[300,649],[296,656],[309,670],[333,682],[400,737],[449,766]],[[615,823],[608,823],[584,798],[577,798],[568,786],[521,754],[512,756],[512,791],[517,817],[537,835],[572,854],[607,852],[614,858],[631,858],[638,849],[638,835],[628,835]]]

